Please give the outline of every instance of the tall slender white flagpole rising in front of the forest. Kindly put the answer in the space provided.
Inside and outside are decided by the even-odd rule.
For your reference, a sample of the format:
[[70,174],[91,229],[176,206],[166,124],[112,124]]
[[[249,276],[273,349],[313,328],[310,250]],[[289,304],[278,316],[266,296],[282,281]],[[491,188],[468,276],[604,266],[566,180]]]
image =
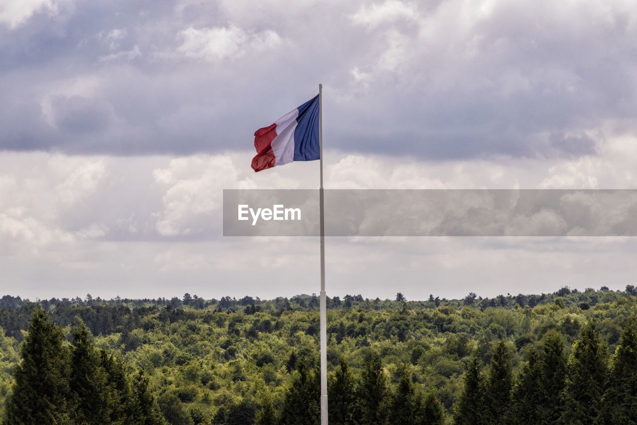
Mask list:
[[327,425],[327,311],[325,298],[325,216],[323,205],[323,85],[318,84],[318,149],[320,154],[320,423]]

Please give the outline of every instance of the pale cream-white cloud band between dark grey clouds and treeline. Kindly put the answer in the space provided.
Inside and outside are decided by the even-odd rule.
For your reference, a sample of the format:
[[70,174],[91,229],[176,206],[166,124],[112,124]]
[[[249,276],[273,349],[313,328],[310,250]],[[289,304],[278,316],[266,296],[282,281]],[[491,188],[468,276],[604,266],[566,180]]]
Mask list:
[[[441,163],[327,150],[326,187],[538,188],[547,177],[573,170],[587,176],[582,181],[597,179],[599,188],[637,188],[635,145],[634,138],[609,139],[601,158],[590,163],[524,158]],[[175,296],[186,290],[217,298],[314,292],[308,270],[318,270],[315,238],[221,235],[223,189],[317,186],[317,162],[255,174],[252,154],[0,153],[0,283],[32,298],[82,295],[87,287],[104,297]],[[630,199],[620,202],[613,207],[619,215],[601,214],[597,225],[621,214],[634,216],[633,205]],[[571,197],[561,211],[569,221],[585,222],[599,218],[605,207],[603,199]],[[518,225],[541,232],[547,223],[550,217],[538,216]],[[492,296],[502,287],[548,292],[560,285],[599,286],[601,280],[621,288],[635,272],[629,266],[633,239],[333,238],[326,248],[328,290],[392,297],[387,287],[392,280],[415,299],[430,292],[461,297],[469,290]],[[264,273],[277,276],[268,287],[261,285]],[[175,286],[184,281],[187,288]],[[445,290],[436,293],[440,285]]]

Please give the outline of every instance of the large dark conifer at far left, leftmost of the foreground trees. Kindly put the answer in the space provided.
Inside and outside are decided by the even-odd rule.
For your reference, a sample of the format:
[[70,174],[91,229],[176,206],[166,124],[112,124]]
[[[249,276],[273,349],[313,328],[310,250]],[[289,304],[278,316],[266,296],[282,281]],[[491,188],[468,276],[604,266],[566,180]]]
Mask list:
[[15,367],[15,384],[6,405],[4,423],[47,425],[68,422],[68,347],[62,329],[39,305],[33,312],[20,351],[22,363]]

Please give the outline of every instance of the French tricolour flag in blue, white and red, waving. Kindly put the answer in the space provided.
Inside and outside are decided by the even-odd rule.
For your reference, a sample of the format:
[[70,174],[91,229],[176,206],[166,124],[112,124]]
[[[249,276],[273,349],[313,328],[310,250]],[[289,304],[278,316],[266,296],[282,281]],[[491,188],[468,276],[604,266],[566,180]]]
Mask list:
[[280,117],[271,126],[255,131],[257,155],[252,158],[255,172],[292,161],[320,159],[318,104],[316,96]]

